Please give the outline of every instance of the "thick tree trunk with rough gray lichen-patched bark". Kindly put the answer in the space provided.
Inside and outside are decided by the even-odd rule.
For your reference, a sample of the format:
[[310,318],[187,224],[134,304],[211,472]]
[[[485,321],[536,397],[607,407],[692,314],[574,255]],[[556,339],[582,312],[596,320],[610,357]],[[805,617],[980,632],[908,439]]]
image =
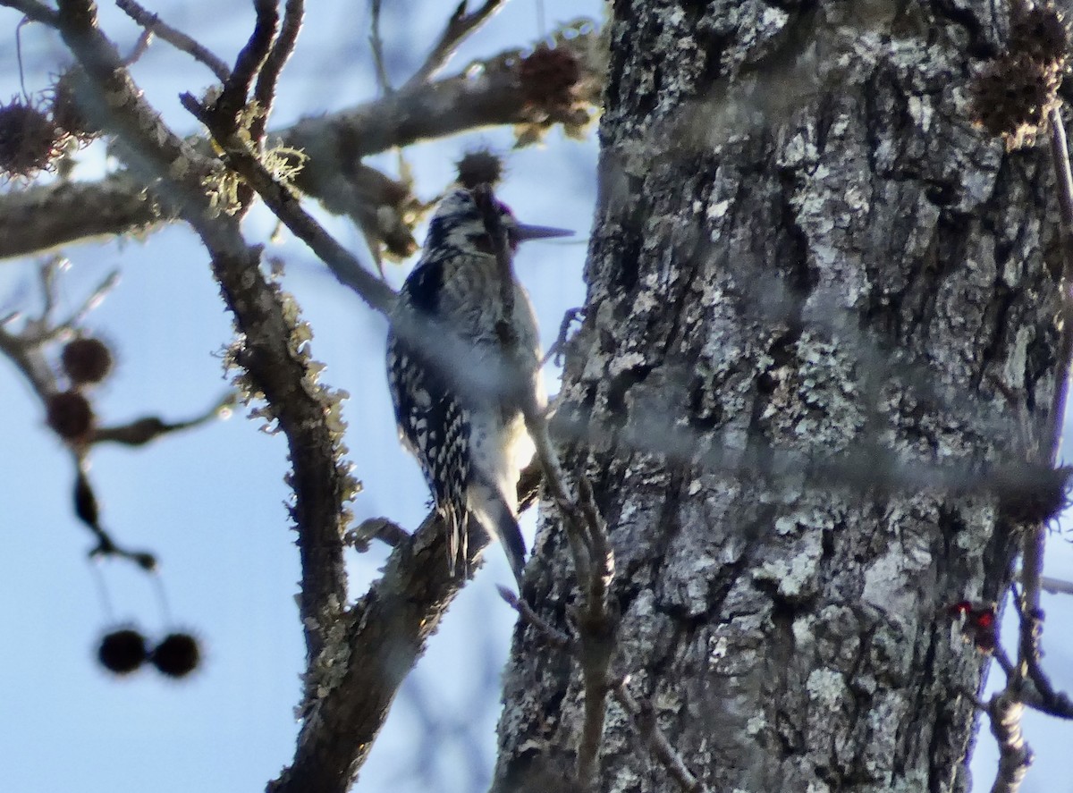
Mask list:
[[[611,527],[614,670],[708,790],[967,788],[987,659],[945,610],[1001,600],[985,472],[1058,421],[1047,152],[969,117],[993,9],[615,3],[559,427]],[[535,555],[565,628],[548,512]],[[569,779],[576,663],[523,625],[504,699],[495,790]],[[599,788],[677,790],[615,704]]]

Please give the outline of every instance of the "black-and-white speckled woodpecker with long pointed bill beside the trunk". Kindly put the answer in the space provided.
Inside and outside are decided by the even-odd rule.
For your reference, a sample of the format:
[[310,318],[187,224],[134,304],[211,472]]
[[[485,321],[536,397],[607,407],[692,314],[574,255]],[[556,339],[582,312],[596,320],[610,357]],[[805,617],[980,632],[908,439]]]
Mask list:
[[392,311],[387,382],[399,440],[417,458],[465,570],[470,517],[498,538],[521,589],[517,483],[533,456],[525,410],[547,403],[529,295],[513,256],[572,232],[517,222],[488,186],[450,192]]

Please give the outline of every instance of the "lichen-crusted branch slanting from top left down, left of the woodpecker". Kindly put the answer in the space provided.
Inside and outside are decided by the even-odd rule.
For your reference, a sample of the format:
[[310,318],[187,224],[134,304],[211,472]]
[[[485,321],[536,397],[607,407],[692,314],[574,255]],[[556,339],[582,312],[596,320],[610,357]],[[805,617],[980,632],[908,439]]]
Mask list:
[[[297,311],[265,280],[261,249],[242,240],[236,218],[209,205],[203,182],[212,176],[211,162],[190,150],[152,112],[115,47],[100,32],[90,2],[62,0],[60,20],[64,42],[97,92],[121,98],[108,103],[112,113],[105,119],[107,128],[119,134],[120,153],[148,179],[166,186],[177,211],[208,249],[214,275],[240,333],[241,342],[232,350],[234,361],[248,372],[250,392],[264,395],[266,412],[288,439],[303,569],[299,610],[310,657],[315,657],[327,626],[346,601],[344,503],[358,486],[341,459],[339,397],[317,384]],[[176,168],[176,161],[185,167]]]

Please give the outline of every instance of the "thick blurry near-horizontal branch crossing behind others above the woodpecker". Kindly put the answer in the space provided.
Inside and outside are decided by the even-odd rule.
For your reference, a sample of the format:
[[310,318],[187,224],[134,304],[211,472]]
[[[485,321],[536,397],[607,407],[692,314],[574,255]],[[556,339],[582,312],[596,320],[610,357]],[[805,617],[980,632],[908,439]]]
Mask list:
[[[583,53],[593,35],[578,35],[560,46]],[[511,57],[504,53],[488,59],[474,78],[453,76],[424,83],[274,133],[284,146],[300,149],[310,158],[296,178],[296,187],[323,201],[330,211],[362,218],[358,222],[374,226],[382,215],[376,201],[383,200],[384,191],[369,190],[367,185],[391,180],[382,174],[377,179],[366,178],[378,172],[361,164],[363,157],[496,124],[536,119],[548,124],[576,122],[573,116],[562,116],[559,108],[527,103]],[[594,72],[586,79],[599,85]],[[594,89],[593,99],[597,92]],[[0,259],[106,235],[144,234],[176,220],[178,209],[170,201],[147,200],[148,183],[126,172],[99,182],[60,182],[0,194]],[[93,212],[86,211],[89,206]],[[406,255],[412,238],[398,234],[394,241],[387,240],[388,248]]]

